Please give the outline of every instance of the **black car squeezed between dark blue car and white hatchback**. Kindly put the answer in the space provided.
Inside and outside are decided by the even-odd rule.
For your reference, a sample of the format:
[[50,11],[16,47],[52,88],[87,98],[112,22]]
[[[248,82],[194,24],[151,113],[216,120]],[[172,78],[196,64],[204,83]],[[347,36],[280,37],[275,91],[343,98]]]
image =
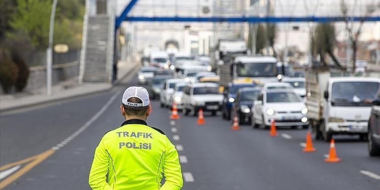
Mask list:
[[231,116],[234,115],[236,111],[236,116],[239,124],[251,123],[251,108],[253,106],[253,101],[257,98],[260,93],[261,88],[241,88],[236,94],[233,107],[231,109]]

